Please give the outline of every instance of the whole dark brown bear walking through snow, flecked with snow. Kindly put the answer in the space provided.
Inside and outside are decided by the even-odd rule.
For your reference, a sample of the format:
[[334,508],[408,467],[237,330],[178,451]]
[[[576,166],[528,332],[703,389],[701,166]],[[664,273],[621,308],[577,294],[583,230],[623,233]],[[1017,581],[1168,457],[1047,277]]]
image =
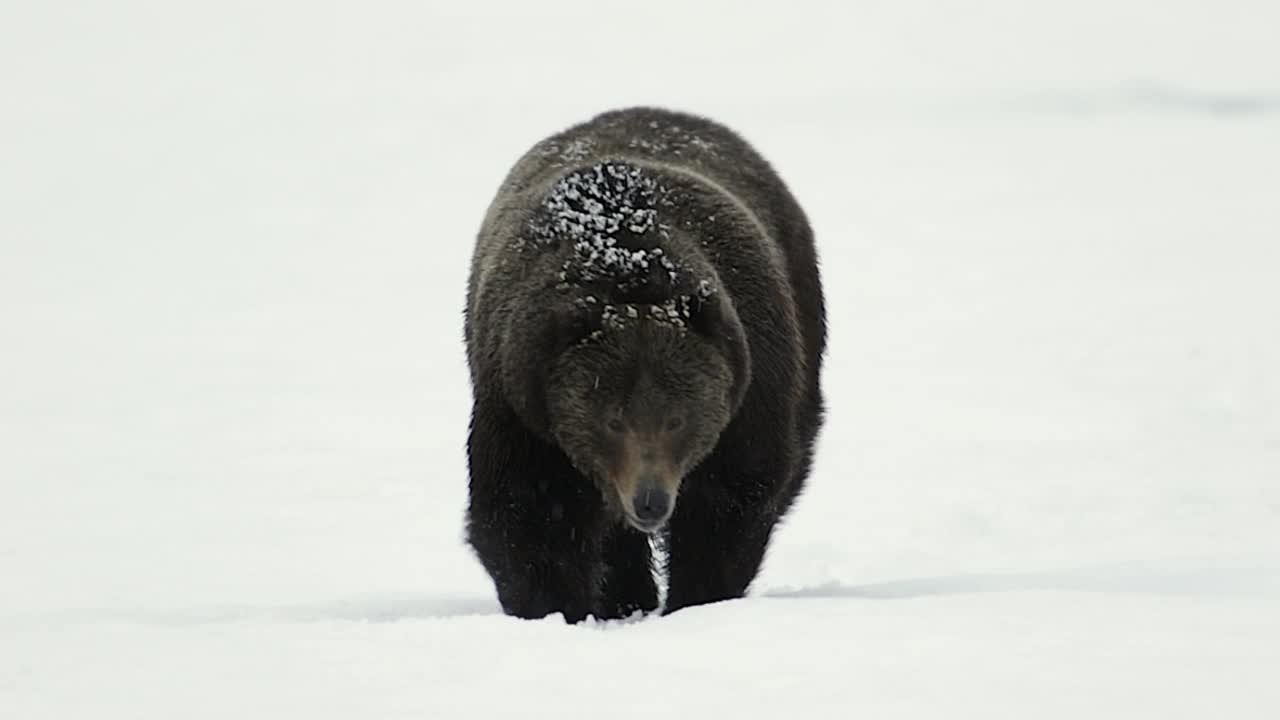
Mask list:
[[466,341],[467,538],[508,614],[657,609],[645,533],[668,612],[746,592],[809,473],[826,318],[804,213],[744,140],[640,108],[536,145]]

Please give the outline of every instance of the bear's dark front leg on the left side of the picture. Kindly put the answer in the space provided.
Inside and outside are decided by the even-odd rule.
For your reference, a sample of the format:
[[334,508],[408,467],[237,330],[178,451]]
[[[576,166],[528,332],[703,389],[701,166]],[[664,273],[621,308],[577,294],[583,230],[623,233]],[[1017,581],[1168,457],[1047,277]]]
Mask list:
[[493,578],[503,611],[563,612],[577,623],[603,583],[599,491],[513,413],[476,404],[467,441],[467,541]]

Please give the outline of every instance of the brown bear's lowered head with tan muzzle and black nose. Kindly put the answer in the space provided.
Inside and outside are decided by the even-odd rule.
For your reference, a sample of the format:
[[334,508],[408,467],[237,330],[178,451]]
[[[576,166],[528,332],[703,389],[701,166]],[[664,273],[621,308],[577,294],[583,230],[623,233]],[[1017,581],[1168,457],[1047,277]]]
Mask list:
[[579,304],[554,324],[563,350],[544,384],[550,436],[621,518],[660,529],[750,382],[732,304],[721,293]]

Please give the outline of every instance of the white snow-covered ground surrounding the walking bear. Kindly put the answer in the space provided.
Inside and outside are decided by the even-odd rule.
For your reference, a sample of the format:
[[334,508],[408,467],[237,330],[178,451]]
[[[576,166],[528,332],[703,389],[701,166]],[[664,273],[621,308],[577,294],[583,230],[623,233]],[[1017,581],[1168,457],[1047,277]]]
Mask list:
[[[0,717],[1280,715],[1280,5],[0,10]],[[590,114],[813,219],[751,597],[566,626],[461,542],[471,241]]]

